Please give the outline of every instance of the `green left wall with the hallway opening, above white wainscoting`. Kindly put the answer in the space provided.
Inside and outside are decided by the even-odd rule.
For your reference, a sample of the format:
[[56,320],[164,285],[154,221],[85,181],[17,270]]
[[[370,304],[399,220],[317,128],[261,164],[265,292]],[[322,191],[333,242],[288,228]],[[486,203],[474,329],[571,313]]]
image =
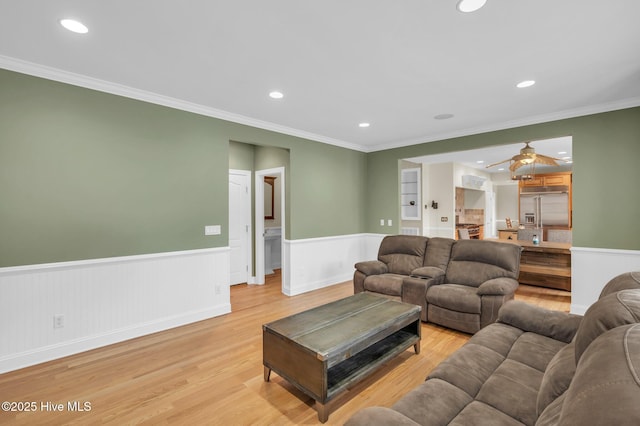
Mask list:
[[[364,153],[6,70],[0,94],[0,267],[228,245],[230,141],[298,162],[287,238],[364,230]],[[316,210],[329,165],[346,220]]]

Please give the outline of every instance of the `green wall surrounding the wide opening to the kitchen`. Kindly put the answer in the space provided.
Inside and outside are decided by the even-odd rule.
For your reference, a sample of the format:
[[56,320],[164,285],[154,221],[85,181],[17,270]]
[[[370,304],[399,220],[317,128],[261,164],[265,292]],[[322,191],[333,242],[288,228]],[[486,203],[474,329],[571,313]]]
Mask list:
[[640,249],[640,108],[412,145],[368,155],[366,228],[400,217],[398,160],[558,136],[573,137],[573,245]]

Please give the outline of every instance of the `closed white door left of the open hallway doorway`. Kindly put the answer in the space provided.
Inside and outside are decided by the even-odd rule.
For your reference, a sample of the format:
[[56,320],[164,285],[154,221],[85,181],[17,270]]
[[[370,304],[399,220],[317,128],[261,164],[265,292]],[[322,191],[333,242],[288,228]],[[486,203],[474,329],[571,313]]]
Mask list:
[[251,260],[251,172],[229,170],[231,285],[249,282]]

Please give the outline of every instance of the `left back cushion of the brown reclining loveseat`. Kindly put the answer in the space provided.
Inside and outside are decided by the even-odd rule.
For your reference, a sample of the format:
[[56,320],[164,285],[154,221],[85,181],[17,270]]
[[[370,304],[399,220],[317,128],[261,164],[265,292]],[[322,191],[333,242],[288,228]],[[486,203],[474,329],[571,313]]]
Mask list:
[[422,266],[428,238],[415,235],[388,235],[378,249],[378,260],[392,274],[409,275]]

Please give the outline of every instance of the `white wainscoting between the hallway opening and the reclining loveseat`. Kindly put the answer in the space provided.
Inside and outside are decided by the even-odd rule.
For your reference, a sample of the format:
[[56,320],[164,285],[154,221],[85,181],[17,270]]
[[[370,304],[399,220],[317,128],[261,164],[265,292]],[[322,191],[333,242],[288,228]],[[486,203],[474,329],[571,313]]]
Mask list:
[[383,237],[351,234],[285,240],[282,292],[294,296],[352,279],[357,262],[378,257]]

